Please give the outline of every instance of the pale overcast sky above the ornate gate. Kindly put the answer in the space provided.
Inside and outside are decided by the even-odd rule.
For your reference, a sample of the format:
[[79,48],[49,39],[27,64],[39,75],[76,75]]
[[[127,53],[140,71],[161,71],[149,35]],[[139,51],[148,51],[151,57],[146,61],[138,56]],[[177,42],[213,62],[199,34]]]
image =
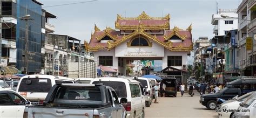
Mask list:
[[[88,0],[40,0],[44,6],[84,2]],[[89,0],[90,1],[90,0]],[[192,24],[192,38],[213,37],[211,25],[212,14],[218,9],[237,9],[242,0],[98,0],[96,2],[43,8],[56,15],[50,19],[55,25],[56,34],[67,34],[74,38],[87,41],[94,31],[94,24],[100,30],[106,26],[114,29],[117,14],[123,17],[137,17],[145,11],[151,17],[161,17],[170,13],[170,28],[178,26],[186,30]],[[83,43],[83,42],[82,42]],[[191,61],[191,59],[190,59]],[[191,63],[191,62],[188,62]]]

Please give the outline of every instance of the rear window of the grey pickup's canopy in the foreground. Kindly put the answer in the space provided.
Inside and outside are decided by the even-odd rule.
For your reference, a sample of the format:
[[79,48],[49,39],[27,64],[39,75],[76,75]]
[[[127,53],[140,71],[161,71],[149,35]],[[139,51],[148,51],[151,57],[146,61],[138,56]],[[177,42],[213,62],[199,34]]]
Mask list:
[[90,100],[101,101],[102,96],[98,87],[60,87],[56,99],[61,100]]

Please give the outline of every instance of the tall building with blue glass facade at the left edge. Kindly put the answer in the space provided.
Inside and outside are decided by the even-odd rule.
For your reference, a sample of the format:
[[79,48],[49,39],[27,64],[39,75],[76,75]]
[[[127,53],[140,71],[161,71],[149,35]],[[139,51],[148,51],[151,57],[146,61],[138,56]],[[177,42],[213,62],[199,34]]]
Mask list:
[[[6,65],[16,66],[18,70],[23,68],[28,71],[28,74],[41,72],[41,46],[44,40],[42,4],[34,0],[4,0],[0,2],[0,5],[1,49],[2,57],[7,61]],[[30,17],[26,20],[21,18],[26,15]],[[26,42],[30,45],[28,50],[25,49]],[[26,66],[28,68],[25,68]]]

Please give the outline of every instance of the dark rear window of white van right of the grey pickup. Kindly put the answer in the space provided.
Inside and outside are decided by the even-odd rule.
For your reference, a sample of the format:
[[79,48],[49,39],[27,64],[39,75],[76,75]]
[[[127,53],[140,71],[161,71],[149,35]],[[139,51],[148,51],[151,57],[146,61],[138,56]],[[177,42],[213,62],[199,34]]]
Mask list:
[[[119,81],[100,81],[105,86],[110,86],[116,91],[118,98],[126,98],[126,86],[124,82]],[[92,84],[99,84],[99,81],[93,81]]]

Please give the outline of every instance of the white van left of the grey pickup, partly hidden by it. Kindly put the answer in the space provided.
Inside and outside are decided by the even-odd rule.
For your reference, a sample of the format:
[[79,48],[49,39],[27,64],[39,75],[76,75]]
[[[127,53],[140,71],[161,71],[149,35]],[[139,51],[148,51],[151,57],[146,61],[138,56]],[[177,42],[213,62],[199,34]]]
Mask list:
[[19,80],[17,90],[32,105],[43,104],[51,87],[60,83],[74,83],[75,79],[54,75],[26,75]]

